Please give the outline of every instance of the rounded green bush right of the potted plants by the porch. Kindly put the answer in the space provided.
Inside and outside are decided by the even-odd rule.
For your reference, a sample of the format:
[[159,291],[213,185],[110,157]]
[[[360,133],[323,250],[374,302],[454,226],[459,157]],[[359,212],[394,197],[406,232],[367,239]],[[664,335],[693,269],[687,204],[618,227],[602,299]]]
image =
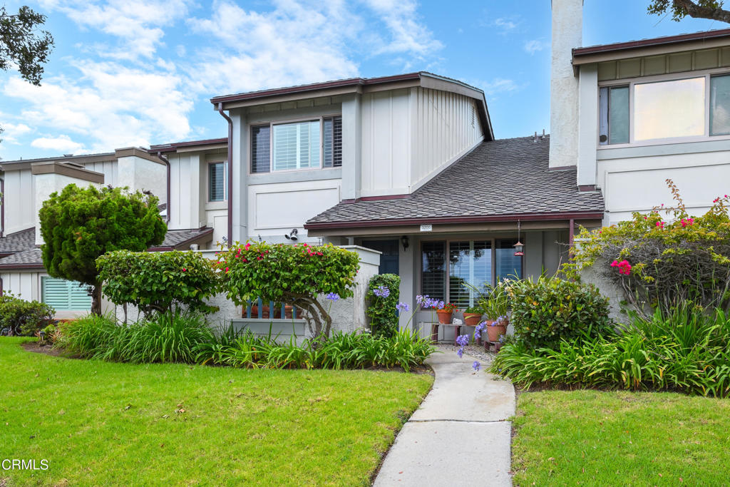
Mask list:
[[594,285],[558,277],[508,284],[515,338],[529,348],[557,348],[561,340],[598,337],[613,329],[608,299]]

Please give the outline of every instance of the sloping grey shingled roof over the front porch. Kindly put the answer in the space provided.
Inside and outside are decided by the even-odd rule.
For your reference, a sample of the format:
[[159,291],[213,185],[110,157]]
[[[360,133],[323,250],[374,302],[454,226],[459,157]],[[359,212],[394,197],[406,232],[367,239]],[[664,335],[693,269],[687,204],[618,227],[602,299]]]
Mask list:
[[549,136],[483,142],[409,196],[340,202],[304,228],[602,218],[602,193],[579,191],[575,167],[548,169],[549,149]]

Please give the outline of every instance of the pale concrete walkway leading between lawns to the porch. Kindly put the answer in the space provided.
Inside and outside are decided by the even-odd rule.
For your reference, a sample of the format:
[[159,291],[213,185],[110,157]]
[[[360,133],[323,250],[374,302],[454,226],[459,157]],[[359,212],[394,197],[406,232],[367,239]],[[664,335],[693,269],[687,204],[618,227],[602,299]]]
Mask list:
[[[475,358],[435,353],[434,388],[404,424],[374,486],[511,486],[515,388]],[[484,367],[482,362],[482,366]]]

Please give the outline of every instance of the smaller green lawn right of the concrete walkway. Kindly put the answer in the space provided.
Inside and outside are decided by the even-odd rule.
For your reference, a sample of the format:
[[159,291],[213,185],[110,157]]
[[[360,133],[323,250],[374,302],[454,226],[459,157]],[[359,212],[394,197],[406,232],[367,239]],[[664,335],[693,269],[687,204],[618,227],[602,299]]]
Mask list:
[[519,396],[514,425],[515,485],[730,482],[728,399],[591,390],[527,392]]

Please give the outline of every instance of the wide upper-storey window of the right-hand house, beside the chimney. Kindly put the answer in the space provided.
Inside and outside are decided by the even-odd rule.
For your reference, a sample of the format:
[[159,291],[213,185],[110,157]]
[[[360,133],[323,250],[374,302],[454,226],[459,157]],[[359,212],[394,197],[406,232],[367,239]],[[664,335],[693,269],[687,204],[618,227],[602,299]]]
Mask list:
[[599,144],[730,134],[730,74],[599,89]]

